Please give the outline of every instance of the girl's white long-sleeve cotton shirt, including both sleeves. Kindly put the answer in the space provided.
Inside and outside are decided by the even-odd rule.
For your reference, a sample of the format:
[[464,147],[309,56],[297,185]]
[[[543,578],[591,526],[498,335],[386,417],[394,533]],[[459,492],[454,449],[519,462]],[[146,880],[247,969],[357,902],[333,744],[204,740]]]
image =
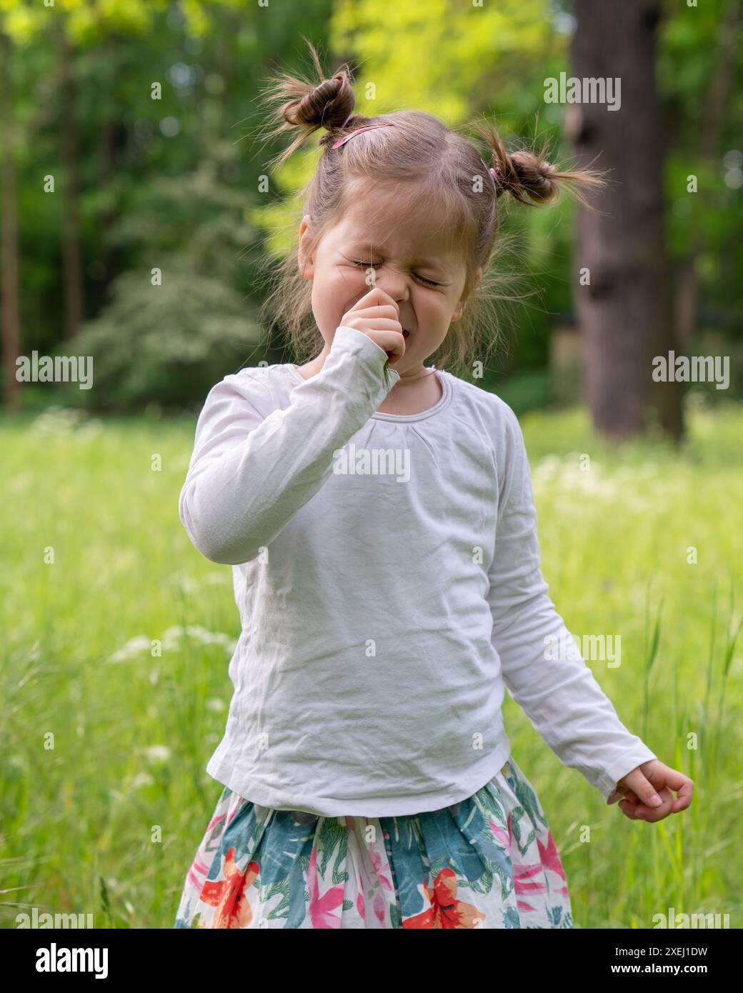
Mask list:
[[385,362],[341,326],[311,378],[244,368],[207,397],[179,512],[232,565],[242,627],[207,772],[278,809],[435,810],[509,758],[508,688],[608,801],[657,757],[580,653],[547,660],[570,635],[539,569],[516,415],[443,370],[435,406],[379,413]]

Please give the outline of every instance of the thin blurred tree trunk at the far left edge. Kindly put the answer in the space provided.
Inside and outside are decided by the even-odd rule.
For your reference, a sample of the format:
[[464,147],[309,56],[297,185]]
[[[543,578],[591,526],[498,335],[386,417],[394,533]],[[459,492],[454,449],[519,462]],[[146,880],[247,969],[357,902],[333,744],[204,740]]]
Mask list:
[[16,198],[16,134],[13,118],[11,74],[12,43],[0,32],[0,147],[2,148],[2,311],[3,402],[7,413],[20,406],[20,383],[16,358],[20,352],[21,328],[18,288],[18,205]]

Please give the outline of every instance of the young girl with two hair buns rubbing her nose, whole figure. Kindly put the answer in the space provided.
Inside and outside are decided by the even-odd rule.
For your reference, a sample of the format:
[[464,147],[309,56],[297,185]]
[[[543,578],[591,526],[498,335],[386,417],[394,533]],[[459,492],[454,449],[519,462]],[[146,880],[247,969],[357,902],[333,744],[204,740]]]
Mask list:
[[279,287],[314,357],[225,376],[196,429],[180,516],[232,565],[242,632],[207,766],[223,792],[175,926],[572,927],[505,689],[631,819],[683,809],[693,784],[577,653],[545,651],[570,635],[516,415],[423,363],[481,358],[463,316],[501,195],[547,202],[584,177],[493,132],[489,169],[428,114],[355,114],[347,67],[275,91],[301,128],[280,160],[326,129]]

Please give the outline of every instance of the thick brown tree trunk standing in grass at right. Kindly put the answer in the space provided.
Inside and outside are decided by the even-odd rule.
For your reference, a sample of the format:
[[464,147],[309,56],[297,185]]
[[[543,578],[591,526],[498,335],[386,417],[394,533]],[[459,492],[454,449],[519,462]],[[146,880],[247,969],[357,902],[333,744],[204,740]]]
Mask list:
[[619,109],[570,107],[580,164],[610,171],[606,189],[591,196],[597,210],[578,214],[576,269],[590,273],[590,285],[576,274],[586,397],[607,436],[631,437],[655,422],[678,438],[680,384],[652,377],[653,357],[674,343],[655,82],[660,0],[575,0],[573,10],[574,76],[621,80]]

